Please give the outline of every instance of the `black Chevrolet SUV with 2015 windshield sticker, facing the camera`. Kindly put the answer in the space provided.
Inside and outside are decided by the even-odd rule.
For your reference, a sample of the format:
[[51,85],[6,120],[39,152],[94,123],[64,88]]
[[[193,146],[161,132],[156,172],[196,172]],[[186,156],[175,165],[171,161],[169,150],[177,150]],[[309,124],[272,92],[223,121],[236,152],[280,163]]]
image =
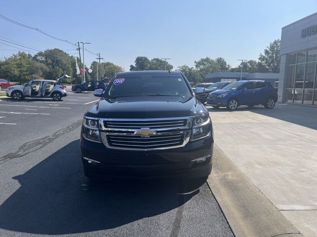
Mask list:
[[181,72],[118,73],[84,115],[87,177],[207,178],[213,132],[208,110]]

